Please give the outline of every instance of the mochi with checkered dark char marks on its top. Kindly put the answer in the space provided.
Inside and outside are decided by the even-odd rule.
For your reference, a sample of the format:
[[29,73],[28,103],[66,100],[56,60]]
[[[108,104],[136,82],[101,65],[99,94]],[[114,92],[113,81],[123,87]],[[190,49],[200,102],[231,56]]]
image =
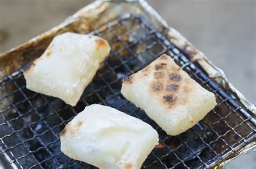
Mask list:
[[124,78],[121,93],[172,136],[191,128],[217,104],[213,93],[166,54]]

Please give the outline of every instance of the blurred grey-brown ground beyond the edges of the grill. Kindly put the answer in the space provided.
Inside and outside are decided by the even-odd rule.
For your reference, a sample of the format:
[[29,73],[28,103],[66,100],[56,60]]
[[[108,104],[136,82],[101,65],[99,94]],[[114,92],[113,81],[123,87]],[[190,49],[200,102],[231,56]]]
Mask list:
[[[0,53],[63,22],[86,0],[0,0]],[[149,0],[154,9],[256,103],[255,0]],[[224,168],[256,168],[248,152]]]

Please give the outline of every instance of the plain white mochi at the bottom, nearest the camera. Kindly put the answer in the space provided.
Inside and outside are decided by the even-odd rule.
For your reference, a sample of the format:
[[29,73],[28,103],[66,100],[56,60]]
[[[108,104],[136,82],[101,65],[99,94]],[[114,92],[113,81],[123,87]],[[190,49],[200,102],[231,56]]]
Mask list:
[[140,168],[158,144],[152,126],[100,104],[86,107],[59,136],[66,156],[99,168]]

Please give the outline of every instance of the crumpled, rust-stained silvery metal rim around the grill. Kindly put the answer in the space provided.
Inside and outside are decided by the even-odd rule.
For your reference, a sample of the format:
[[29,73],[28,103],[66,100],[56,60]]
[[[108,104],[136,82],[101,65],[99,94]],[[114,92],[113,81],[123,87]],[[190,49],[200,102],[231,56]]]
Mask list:
[[[197,50],[197,48],[178,31],[170,27],[165,20],[163,20],[158,13],[143,0],[139,2],[94,2],[85,6],[85,8],[76,12],[62,24],[29,40],[25,44],[0,54],[0,79],[19,68],[24,67],[35,58],[38,58],[57,34],[64,32],[89,33],[99,26],[110,22],[110,20],[118,18],[128,12],[142,15],[159,31],[165,32],[170,41],[184,53],[189,55],[193,62],[198,63],[208,76],[217,82],[226,93],[234,96],[234,98],[239,98],[236,101],[245,105],[248,111],[256,114],[255,106],[248,102],[246,98],[235,89],[235,87],[227,80],[224,72],[213,65],[202,52]],[[250,144],[250,147],[253,146],[255,146],[255,142]],[[247,149],[250,149],[250,147],[247,147]],[[240,150],[239,152],[244,153],[247,149]],[[238,154],[239,153],[234,154],[233,157],[229,157],[228,159],[234,158]]]

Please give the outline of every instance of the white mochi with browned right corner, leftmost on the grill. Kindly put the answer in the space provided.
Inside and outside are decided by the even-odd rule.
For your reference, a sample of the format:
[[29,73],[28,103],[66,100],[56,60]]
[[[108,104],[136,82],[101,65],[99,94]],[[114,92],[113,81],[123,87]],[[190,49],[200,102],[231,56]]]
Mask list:
[[26,88],[75,106],[109,52],[110,46],[102,38],[60,34],[41,57],[24,68]]

